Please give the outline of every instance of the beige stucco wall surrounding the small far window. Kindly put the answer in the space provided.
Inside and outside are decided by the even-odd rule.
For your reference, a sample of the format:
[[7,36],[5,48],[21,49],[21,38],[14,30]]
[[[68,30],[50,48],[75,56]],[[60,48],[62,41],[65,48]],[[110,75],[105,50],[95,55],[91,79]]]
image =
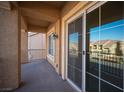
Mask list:
[[[47,60],[53,65],[56,72],[61,74],[61,60],[60,60],[60,51],[61,51],[61,43],[60,43],[60,20],[57,20],[54,24],[52,24],[47,31]],[[55,56],[51,58],[48,54],[48,37],[51,33],[55,32],[58,35],[58,38],[55,39]]]

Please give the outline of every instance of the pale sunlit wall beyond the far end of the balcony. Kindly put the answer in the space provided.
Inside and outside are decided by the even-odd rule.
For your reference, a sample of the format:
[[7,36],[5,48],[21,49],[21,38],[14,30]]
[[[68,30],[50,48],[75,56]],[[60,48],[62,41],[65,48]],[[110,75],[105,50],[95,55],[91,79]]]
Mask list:
[[46,58],[46,34],[28,36],[28,54],[29,61]]

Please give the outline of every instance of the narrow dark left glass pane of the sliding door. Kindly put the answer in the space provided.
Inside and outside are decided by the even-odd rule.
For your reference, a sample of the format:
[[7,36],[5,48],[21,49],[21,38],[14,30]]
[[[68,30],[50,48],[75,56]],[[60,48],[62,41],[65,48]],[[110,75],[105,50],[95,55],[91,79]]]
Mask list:
[[82,89],[82,17],[68,24],[68,79]]

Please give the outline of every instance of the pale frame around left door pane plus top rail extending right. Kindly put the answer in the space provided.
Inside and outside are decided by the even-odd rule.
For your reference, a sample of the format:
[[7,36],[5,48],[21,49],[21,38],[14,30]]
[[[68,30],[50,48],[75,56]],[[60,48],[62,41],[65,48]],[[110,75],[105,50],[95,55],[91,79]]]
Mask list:
[[[102,2],[95,2],[91,3],[78,13],[76,13],[74,16],[66,20],[65,22],[65,34],[66,34],[66,40],[65,40],[65,79],[69,82],[69,84],[77,91],[85,92],[86,91],[86,14],[87,12],[91,12],[97,7],[103,5],[107,1]],[[78,88],[69,78],[68,78],[68,24],[76,20],[77,18],[82,17],[82,89]]]

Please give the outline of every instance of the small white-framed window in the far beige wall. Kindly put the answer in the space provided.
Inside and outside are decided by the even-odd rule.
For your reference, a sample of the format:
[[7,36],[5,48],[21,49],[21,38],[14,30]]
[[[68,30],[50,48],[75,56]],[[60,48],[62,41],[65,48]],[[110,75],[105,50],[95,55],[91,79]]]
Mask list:
[[51,34],[51,35],[49,35],[49,50],[48,50],[48,53],[49,53],[49,55],[54,56],[54,52],[55,52],[55,40],[54,40],[54,38]]

